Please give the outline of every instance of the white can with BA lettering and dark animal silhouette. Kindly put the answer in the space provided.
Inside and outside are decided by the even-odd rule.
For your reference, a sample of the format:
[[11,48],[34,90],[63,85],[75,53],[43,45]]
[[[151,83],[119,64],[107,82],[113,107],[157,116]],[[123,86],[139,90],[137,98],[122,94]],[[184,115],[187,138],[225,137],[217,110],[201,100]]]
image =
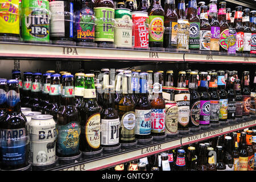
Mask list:
[[52,115],[35,115],[28,123],[30,162],[33,166],[55,163],[56,123]]

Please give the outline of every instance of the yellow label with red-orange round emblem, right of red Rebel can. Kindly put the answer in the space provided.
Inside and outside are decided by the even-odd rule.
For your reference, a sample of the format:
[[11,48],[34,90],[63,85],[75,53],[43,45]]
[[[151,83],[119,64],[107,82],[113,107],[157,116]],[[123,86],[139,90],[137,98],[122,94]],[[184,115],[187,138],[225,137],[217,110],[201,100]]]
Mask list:
[[163,42],[164,16],[148,16],[150,22],[150,42]]

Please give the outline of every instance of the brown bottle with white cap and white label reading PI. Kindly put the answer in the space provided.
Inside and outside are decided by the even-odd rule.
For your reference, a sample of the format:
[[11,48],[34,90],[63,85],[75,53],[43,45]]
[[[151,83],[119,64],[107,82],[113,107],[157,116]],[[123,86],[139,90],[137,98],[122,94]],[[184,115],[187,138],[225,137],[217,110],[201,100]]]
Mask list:
[[114,86],[105,87],[101,110],[101,146],[119,145],[119,115],[114,106]]

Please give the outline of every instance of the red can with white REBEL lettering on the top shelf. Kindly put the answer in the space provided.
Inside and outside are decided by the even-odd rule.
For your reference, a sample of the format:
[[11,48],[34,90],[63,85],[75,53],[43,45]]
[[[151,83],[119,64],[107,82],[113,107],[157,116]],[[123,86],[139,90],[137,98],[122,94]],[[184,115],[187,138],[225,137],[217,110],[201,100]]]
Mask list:
[[133,47],[148,49],[148,14],[146,11],[131,12],[133,17]]

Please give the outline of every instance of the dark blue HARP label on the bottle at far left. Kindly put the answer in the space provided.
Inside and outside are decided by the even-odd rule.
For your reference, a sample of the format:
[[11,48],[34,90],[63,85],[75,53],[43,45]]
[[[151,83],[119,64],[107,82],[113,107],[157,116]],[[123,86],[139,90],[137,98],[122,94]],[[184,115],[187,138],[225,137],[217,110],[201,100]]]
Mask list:
[[6,166],[26,163],[28,138],[26,129],[1,129],[1,162]]

